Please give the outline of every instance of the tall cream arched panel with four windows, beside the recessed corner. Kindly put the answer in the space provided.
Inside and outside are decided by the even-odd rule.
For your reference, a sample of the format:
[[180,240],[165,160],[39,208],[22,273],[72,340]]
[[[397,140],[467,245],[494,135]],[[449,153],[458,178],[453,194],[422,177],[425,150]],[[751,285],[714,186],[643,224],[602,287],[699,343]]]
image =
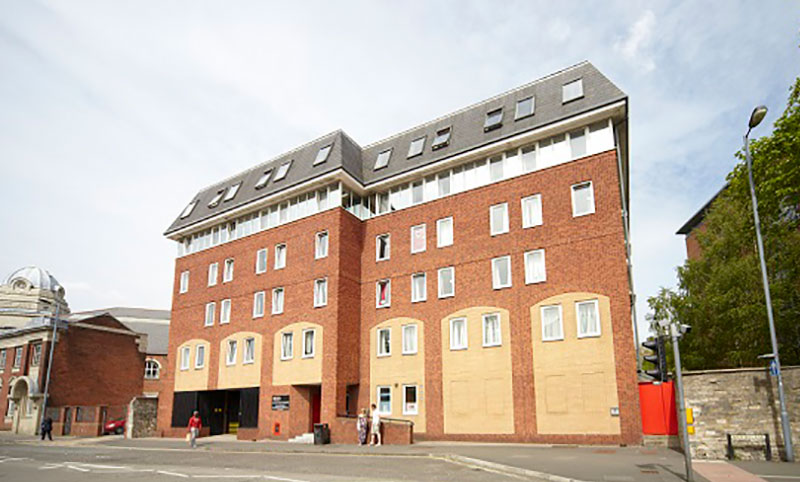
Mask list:
[[[417,325],[417,353],[403,354],[403,326]],[[390,328],[391,355],[378,356],[378,329]],[[414,422],[414,432],[425,433],[425,330],[424,323],[414,318],[392,318],[370,330],[370,403],[378,403],[379,386],[392,387],[391,418]],[[403,385],[417,386],[417,415],[403,414]],[[366,407],[363,407],[366,408]]]

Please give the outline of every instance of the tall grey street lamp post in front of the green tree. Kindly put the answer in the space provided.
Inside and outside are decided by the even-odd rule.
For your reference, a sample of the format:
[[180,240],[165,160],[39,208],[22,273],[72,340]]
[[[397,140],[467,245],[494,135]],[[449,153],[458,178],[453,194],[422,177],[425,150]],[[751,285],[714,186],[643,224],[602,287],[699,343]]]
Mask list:
[[786,396],[783,393],[783,376],[781,375],[781,361],[778,356],[778,338],[775,336],[775,320],[772,317],[772,298],[769,294],[769,279],[767,278],[767,263],[764,259],[764,243],[761,240],[761,222],[758,218],[758,199],[756,199],[756,187],[753,182],[753,161],[750,157],[750,131],[753,130],[767,115],[767,108],[760,105],[753,109],[750,114],[747,133],[744,135],[744,154],[747,163],[747,177],[750,181],[750,199],[753,202],[753,220],[756,226],[756,243],[758,244],[758,259],[761,262],[761,280],[764,284],[764,298],[767,304],[767,320],[769,320],[769,336],[772,341],[772,359],[775,361],[778,379],[778,398],[781,404],[781,428],[783,429],[783,446],[786,452],[787,462],[794,462],[794,450],[792,449],[792,431],[789,428],[789,413],[786,411]]

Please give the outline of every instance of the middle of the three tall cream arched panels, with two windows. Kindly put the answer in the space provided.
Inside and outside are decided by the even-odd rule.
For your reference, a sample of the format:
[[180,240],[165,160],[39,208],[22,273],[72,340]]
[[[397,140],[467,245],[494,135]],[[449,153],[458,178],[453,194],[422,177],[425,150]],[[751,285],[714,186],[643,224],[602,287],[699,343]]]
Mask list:
[[[483,315],[500,315],[501,343],[483,346]],[[467,319],[467,348],[451,350],[450,320]],[[507,310],[476,306],[441,321],[445,434],[514,433],[511,330]]]

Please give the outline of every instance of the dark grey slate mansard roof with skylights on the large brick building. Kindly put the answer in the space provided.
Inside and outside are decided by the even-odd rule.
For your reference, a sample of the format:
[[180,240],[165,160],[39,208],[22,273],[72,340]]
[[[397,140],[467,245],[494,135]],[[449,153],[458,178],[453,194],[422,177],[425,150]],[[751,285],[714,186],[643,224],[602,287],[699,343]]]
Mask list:
[[[582,98],[563,104],[561,88],[573,80],[583,79]],[[517,100],[535,96],[535,114],[525,119],[514,120]],[[522,87],[500,94],[491,99],[479,102],[465,109],[440,117],[434,121],[414,127],[405,132],[360,147],[341,130],[332,132],[287,152],[271,161],[260,164],[245,172],[237,174],[213,186],[200,191],[192,200],[198,200],[192,213],[181,219],[178,217],[167,228],[165,234],[173,233],[198,221],[208,219],[219,213],[230,211],[238,206],[250,203],[288,187],[308,181],[322,174],[344,169],[361,182],[369,185],[385,180],[406,171],[434,163],[443,158],[466,152],[485,144],[497,142],[522,132],[540,128],[560,120],[588,112],[593,109],[626,99],[626,95],[601,74],[591,63],[582,62],[555,74],[535,80]],[[484,132],[486,113],[495,108],[503,108],[503,124],[499,129]],[[431,149],[436,131],[451,126],[450,144],[438,150]],[[407,159],[408,147],[412,140],[427,135],[425,149],[419,156]],[[314,158],[321,147],[333,142],[334,147],[324,164],[313,166]],[[373,170],[378,153],[391,148],[393,150],[389,165],[377,171]],[[286,160],[292,159],[292,167],[286,179],[272,182],[263,189],[254,186],[263,172],[275,169]],[[213,208],[208,202],[221,189],[242,181],[242,187],[236,197],[227,202],[220,202]],[[190,200],[190,202],[192,201]],[[187,203],[188,204],[188,203]],[[181,208],[183,209],[183,207]]]

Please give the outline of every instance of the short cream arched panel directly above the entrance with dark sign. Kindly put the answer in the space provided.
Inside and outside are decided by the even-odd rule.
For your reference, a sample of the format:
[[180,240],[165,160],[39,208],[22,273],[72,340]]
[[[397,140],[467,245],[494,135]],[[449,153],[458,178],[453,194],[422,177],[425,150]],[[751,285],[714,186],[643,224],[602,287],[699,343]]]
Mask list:
[[[303,358],[303,330],[314,329],[314,356]],[[292,358],[281,360],[281,336],[292,332]],[[322,383],[322,326],[315,323],[292,323],[275,332],[272,343],[272,385],[316,385]]]

